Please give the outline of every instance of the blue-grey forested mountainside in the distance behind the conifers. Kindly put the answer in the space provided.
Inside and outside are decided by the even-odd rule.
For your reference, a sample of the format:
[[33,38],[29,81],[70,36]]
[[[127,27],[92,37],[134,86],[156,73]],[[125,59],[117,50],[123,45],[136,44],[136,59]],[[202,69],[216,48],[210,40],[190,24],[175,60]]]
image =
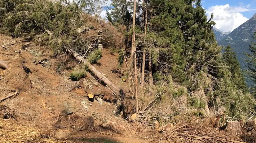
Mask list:
[[[234,49],[242,69],[246,69],[246,63],[244,59],[246,59],[247,57],[245,53],[250,53],[249,44],[251,44],[252,41],[255,42],[255,40],[253,40],[255,30],[256,14],[254,14],[248,21],[243,23],[241,26],[234,29],[225,38],[218,41],[219,45],[230,45],[232,49]],[[246,82],[248,85],[252,84],[252,82],[248,79],[246,80]]]

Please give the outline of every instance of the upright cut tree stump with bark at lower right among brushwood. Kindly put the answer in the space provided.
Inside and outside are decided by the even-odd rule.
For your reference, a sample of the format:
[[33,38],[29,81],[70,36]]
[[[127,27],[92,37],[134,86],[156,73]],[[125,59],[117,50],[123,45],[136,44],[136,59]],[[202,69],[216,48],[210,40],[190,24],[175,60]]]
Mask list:
[[238,121],[227,121],[227,127],[225,130],[227,133],[235,136],[241,135],[242,132],[240,122]]

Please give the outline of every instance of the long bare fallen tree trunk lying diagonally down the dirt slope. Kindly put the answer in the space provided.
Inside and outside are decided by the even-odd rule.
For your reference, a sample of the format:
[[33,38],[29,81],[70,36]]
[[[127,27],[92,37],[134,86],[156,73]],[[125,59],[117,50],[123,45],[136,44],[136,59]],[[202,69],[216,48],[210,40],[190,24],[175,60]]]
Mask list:
[[118,100],[124,99],[124,92],[122,89],[118,88],[115,84],[113,84],[111,81],[109,81],[102,73],[100,73],[92,64],[90,64],[86,59],[84,59],[81,55],[79,55],[77,52],[75,52],[72,49],[67,49],[68,52],[73,55],[78,61],[81,61],[82,63],[88,65],[88,68],[90,71],[95,74],[101,80],[106,84],[117,96],[119,95]]

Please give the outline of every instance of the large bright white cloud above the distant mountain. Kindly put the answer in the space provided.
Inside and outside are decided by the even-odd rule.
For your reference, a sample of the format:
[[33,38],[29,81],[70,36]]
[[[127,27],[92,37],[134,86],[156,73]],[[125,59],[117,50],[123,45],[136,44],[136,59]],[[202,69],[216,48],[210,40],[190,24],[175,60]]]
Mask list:
[[207,17],[210,18],[211,13],[214,15],[215,27],[221,31],[233,31],[241,24],[246,22],[248,18],[243,16],[241,12],[252,11],[247,6],[230,6],[229,4],[221,6],[212,6],[206,10]]

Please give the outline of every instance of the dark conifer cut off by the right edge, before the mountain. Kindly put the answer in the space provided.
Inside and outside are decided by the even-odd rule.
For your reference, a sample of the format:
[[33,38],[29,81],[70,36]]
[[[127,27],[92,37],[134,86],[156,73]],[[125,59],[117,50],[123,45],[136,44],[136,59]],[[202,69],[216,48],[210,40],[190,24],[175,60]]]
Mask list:
[[[254,33],[254,39],[256,39],[256,32]],[[252,42],[249,46],[249,50],[251,53],[246,53],[248,59],[245,61],[247,62],[247,73],[249,78],[254,82],[254,94],[256,91],[256,43]]]

